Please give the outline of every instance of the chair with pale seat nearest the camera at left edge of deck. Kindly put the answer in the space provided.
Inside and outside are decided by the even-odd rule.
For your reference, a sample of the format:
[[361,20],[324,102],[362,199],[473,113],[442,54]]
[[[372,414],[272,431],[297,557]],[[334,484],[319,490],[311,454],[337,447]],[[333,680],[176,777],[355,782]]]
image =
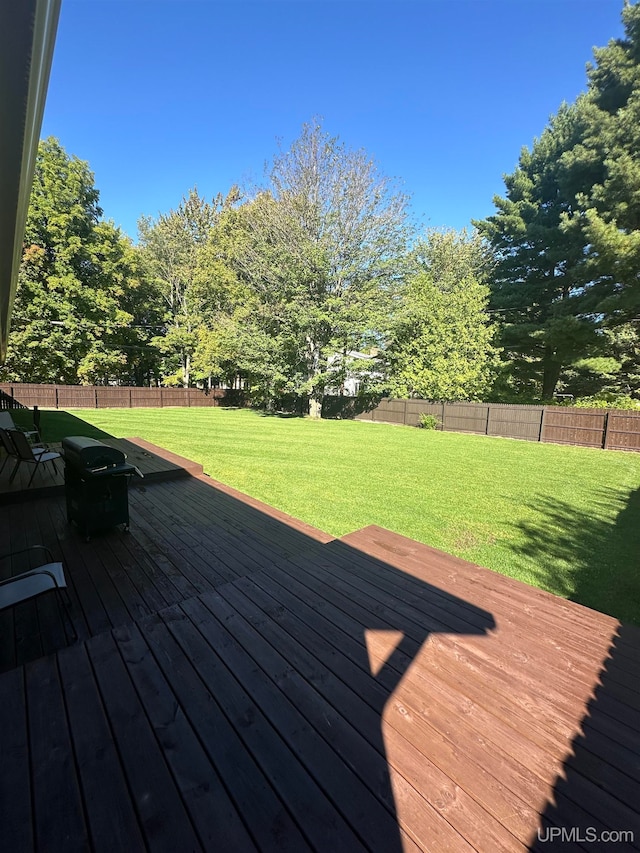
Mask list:
[[[53,592],[56,596],[56,606],[62,619],[65,636],[67,640],[69,640],[69,636],[72,640],[76,640],[78,634],[69,614],[71,599],[67,591],[67,580],[62,563],[54,562],[51,551],[44,545],[32,545],[29,548],[3,554],[0,556],[0,564],[7,559],[11,559],[13,564],[13,559],[19,554],[33,554],[36,551],[43,551],[48,562],[0,581],[0,611],[15,607],[16,604],[36,598],[45,592]],[[70,631],[67,630],[67,626]]]

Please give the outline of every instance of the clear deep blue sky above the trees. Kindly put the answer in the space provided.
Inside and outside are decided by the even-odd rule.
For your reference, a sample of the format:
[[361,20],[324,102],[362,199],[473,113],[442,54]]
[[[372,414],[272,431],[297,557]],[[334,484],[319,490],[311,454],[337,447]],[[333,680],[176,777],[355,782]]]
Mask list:
[[305,121],[363,148],[419,224],[493,212],[502,175],[622,0],[63,0],[42,135],[87,160],[104,215],[260,181]]

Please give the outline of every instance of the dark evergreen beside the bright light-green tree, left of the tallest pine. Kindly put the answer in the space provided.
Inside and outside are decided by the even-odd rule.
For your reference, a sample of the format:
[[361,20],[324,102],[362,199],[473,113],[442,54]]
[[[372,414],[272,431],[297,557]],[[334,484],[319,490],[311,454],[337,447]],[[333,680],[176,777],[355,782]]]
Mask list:
[[594,162],[578,176],[563,159],[580,139],[584,108],[581,101],[561,108],[505,177],[497,214],[475,223],[497,258],[490,309],[500,321],[507,381],[514,390],[535,388],[543,399],[553,396],[563,368],[599,344],[597,318],[584,301],[584,240],[562,228],[600,169]]

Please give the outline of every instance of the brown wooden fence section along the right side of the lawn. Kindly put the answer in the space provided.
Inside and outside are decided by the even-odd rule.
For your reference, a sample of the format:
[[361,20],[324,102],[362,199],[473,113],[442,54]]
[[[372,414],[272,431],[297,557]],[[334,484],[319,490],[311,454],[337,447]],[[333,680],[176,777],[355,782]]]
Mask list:
[[421,412],[435,415],[440,429],[499,435],[528,441],[640,451],[640,412],[519,406],[502,403],[431,403],[384,398],[358,420],[417,426]]

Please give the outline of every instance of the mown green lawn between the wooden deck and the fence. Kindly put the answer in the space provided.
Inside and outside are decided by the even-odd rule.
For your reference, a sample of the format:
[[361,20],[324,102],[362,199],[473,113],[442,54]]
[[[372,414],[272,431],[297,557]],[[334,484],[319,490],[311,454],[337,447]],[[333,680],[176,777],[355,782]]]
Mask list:
[[640,623],[640,454],[246,410],[69,415],[44,412],[45,438],[138,435],[336,536],[379,524]]

